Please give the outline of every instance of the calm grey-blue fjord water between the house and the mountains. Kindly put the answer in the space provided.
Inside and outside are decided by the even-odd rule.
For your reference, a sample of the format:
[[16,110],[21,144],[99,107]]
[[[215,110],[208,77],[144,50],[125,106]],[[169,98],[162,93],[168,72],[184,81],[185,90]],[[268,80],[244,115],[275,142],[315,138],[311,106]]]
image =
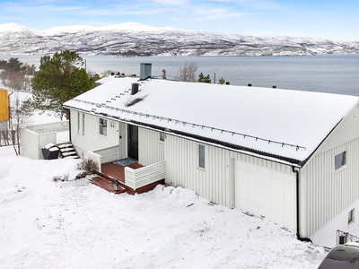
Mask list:
[[[8,59],[11,56],[0,56]],[[23,63],[39,67],[40,56],[14,56]],[[195,61],[197,74],[210,74],[212,82],[220,78],[232,85],[301,91],[323,91],[359,95],[359,55],[317,56],[83,56],[93,72],[111,70],[139,75],[140,63],[151,63],[153,75],[173,79],[181,65]],[[214,78],[215,76],[215,78]]]

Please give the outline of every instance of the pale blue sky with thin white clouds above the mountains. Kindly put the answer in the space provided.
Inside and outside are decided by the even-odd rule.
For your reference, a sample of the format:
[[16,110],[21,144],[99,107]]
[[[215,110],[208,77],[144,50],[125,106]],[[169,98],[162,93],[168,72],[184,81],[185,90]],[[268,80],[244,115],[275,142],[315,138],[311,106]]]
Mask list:
[[359,41],[358,0],[0,0],[0,24],[157,27]]

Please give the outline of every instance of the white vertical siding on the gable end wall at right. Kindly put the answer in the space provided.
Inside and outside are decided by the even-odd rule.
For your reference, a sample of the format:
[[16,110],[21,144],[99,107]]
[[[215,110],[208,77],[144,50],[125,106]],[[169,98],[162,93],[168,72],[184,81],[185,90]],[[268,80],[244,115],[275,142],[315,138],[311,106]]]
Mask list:
[[[335,156],[345,151],[346,166],[335,170]],[[300,177],[302,236],[311,236],[359,199],[358,178],[359,110],[356,107],[302,168]]]

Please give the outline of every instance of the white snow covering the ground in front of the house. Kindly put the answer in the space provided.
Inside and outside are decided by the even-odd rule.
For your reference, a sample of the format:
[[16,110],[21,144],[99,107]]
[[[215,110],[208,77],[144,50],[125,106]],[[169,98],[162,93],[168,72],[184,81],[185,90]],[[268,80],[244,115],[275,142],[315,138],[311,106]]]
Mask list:
[[326,252],[182,187],[113,195],[0,148],[0,268],[317,268]]

